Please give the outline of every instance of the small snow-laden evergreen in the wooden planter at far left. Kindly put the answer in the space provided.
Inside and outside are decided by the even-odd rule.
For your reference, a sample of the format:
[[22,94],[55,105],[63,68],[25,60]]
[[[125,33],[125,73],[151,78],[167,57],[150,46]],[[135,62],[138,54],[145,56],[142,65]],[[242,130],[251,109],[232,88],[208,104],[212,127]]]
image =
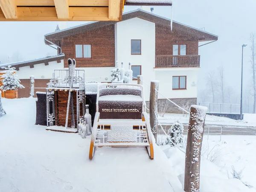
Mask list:
[[2,67],[2,69],[5,69],[5,74],[1,76],[2,86],[0,87],[1,90],[15,90],[17,88],[25,88],[22,84],[20,84],[20,79],[18,79],[18,76],[15,72],[15,67],[11,67],[9,65],[8,67]]

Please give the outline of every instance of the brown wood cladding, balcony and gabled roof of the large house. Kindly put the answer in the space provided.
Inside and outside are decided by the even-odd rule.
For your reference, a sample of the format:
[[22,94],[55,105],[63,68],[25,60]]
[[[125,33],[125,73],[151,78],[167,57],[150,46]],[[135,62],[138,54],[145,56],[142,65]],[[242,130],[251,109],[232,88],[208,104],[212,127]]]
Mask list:
[[[135,17],[155,23],[155,67],[200,67],[198,42],[218,40],[216,35],[175,21],[171,30],[170,20],[143,10],[124,14],[122,20]],[[91,58],[76,58],[77,67],[114,67],[115,23],[117,22],[100,21],[53,32],[45,35],[45,43],[52,42],[61,47],[62,53],[65,54],[64,67],[67,67],[68,58],[76,58],[76,44],[91,45]],[[175,55],[175,64],[171,58],[173,45],[186,45],[186,56]]]

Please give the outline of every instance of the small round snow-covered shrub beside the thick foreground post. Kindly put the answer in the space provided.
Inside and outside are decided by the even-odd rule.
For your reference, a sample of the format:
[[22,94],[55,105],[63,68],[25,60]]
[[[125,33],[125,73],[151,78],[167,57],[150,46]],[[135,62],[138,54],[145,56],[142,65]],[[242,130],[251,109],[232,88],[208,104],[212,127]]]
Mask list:
[[[183,147],[184,137],[183,137],[184,127],[182,123],[176,121],[171,128],[169,128],[168,134],[171,137],[173,143],[179,147]],[[170,143],[173,145],[172,143]]]

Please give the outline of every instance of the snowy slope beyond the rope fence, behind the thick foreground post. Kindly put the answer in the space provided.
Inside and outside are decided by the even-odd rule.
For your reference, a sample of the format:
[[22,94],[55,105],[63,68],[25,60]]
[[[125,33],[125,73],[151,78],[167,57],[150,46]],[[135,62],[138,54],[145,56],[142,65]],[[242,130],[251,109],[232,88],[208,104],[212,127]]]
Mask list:
[[[221,141],[218,136],[210,136],[209,140],[207,137],[203,140],[200,191],[256,192],[256,136],[225,135]],[[185,154],[167,145],[161,148],[183,181]],[[242,170],[241,180],[232,177],[231,166],[238,172]]]

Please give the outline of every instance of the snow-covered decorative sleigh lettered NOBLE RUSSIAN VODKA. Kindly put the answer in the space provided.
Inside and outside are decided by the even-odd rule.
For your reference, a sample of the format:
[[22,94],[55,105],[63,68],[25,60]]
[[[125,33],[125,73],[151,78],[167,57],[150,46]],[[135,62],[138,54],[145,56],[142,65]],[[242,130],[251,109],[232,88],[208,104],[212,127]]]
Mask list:
[[154,158],[142,85],[99,84],[96,108],[89,159],[96,146],[146,147],[150,159]]

